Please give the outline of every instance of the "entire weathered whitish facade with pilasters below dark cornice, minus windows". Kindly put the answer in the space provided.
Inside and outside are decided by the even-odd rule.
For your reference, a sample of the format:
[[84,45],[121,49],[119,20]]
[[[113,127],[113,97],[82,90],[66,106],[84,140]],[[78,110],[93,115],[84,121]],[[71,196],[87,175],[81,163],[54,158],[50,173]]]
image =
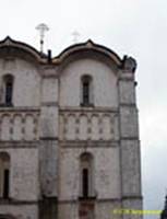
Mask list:
[[[19,58],[0,60],[1,91],[2,76],[14,76],[14,107],[0,111],[0,151],[11,157],[10,197],[17,201],[0,204],[0,214],[37,219],[39,200],[45,210],[47,201],[58,198],[58,218],[77,219],[84,152],[93,155],[97,219],[122,218],[112,215],[121,204],[142,208],[134,74],[128,71],[132,60],[116,72],[108,58],[96,55],[40,70]],[[81,106],[84,74],[93,78],[91,107]]]

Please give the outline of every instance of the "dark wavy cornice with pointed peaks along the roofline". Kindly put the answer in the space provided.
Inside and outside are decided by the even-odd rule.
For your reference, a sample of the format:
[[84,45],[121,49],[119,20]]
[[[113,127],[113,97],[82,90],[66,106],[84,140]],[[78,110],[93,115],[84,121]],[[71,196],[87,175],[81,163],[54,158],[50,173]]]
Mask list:
[[[107,60],[109,60],[109,62],[111,62],[112,66],[116,67],[116,69],[120,69],[121,71],[134,72],[136,69],[136,61],[132,57],[124,56],[123,59],[121,59],[114,50],[103,45],[95,44],[92,39],[88,39],[85,43],[74,44],[65,48],[63,51],[60,53],[60,55],[53,58],[50,57],[50,53],[48,53],[48,55],[41,54],[31,45],[23,42],[14,41],[10,36],[7,36],[3,41],[0,42],[0,54],[2,53],[3,48],[8,49],[8,53],[5,54],[7,57],[10,55],[14,56],[16,54],[22,54],[22,51],[24,51],[32,57],[32,60],[35,60],[44,66],[51,66],[52,68],[53,66],[61,65],[69,57],[72,57],[73,54],[81,54],[83,56],[85,51],[91,51],[95,55],[94,57],[97,57],[97,54],[100,54],[104,57],[108,58]],[[86,57],[87,56],[88,54],[86,53]],[[24,58],[26,56],[24,56]]]

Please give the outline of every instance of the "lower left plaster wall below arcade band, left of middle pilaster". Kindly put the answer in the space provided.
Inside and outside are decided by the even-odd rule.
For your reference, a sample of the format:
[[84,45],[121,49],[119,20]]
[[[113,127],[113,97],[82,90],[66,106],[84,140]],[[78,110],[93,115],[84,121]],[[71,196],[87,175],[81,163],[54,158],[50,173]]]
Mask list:
[[38,150],[25,148],[1,149],[10,154],[10,197],[34,201],[39,197]]

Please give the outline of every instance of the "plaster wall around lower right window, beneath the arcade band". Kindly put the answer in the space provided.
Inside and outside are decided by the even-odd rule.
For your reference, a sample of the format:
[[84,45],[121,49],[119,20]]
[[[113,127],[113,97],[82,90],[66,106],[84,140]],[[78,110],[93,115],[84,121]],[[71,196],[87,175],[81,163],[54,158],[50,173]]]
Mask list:
[[[81,196],[80,155],[84,148],[61,149],[59,159],[59,198],[77,199]],[[93,196],[97,199],[120,198],[119,147],[87,148],[93,154]]]

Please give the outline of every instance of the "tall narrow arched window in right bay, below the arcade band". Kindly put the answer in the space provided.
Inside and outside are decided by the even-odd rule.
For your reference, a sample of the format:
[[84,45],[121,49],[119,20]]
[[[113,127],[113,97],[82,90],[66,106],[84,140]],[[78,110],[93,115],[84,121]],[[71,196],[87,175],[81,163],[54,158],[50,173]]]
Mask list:
[[91,153],[83,153],[81,162],[81,196],[84,198],[93,196],[93,157]]

